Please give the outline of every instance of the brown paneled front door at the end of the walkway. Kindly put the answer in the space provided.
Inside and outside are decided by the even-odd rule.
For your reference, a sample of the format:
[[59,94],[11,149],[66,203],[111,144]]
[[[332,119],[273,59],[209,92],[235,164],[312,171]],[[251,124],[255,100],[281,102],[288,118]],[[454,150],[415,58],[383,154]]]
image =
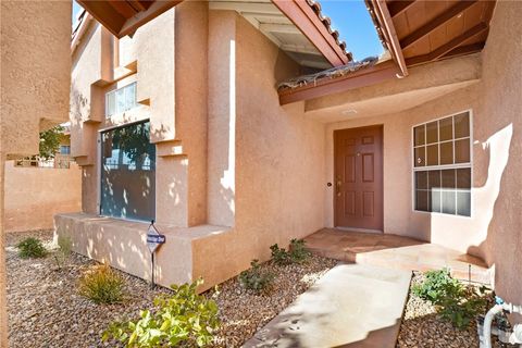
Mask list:
[[335,225],[383,231],[383,127],[334,132]]

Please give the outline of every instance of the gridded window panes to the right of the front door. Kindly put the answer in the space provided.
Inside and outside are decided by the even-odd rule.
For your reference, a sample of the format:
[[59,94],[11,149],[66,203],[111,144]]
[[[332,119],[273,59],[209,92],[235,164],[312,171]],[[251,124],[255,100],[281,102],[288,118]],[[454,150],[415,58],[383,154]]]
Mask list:
[[413,127],[414,209],[471,216],[471,114]]

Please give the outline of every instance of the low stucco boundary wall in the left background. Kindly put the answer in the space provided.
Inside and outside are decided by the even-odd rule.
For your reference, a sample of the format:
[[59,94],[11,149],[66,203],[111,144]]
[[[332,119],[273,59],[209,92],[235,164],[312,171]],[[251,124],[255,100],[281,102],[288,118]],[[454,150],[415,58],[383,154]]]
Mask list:
[[5,163],[5,232],[50,229],[57,213],[82,209],[82,172]]

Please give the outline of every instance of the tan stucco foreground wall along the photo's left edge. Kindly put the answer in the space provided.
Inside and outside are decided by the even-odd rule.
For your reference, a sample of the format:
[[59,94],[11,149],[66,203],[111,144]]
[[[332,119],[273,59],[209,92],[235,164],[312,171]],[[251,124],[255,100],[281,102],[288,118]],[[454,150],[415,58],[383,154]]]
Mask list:
[[8,346],[4,161],[38,152],[42,128],[65,122],[70,89],[70,1],[2,1],[0,62],[0,346]]

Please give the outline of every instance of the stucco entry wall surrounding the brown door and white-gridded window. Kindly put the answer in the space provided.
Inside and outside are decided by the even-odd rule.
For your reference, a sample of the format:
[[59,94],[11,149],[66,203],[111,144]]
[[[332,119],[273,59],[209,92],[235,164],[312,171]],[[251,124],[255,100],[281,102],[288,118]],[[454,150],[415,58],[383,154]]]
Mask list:
[[[384,232],[484,258],[496,268],[498,295],[515,302],[522,302],[522,214],[517,208],[522,202],[522,76],[517,63],[522,53],[522,41],[517,39],[522,37],[522,25],[517,20],[521,15],[522,3],[497,4],[489,38],[481,54],[480,82],[407,111],[370,117],[358,115],[327,124],[324,152],[324,181],[332,181],[333,130],[384,125]],[[316,100],[311,105],[327,108],[328,103]],[[473,114],[472,216],[414,212],[412,126],[463,110]],[[325,225],[333,226],[332,189],[326,189],[324,197]]]

